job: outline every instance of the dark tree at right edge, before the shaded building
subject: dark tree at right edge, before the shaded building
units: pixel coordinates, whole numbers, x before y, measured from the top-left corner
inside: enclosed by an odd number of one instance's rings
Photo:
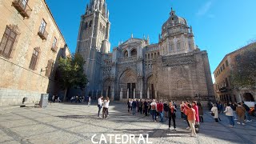
[[[254,89],[256,84],[256,43],[234,58],[231,81],[235,88]]]

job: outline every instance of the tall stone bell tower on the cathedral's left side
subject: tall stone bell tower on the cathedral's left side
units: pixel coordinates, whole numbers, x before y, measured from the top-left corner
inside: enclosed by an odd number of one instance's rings
[[[87,94],[100,90],[102,54],[110,52],[110,21],[106,0],[90,0],[82,14],[76,53],[86,61]]]

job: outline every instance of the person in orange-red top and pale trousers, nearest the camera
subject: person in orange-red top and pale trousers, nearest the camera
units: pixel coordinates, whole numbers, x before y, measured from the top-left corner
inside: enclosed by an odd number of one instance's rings
[[[194,125],[195,125],[195,110],[192,108],[190,104],[187,105],[189,109],[186,110],[186,116],[190,123],[191,137],[196,137],[197,134],[195,133]]]

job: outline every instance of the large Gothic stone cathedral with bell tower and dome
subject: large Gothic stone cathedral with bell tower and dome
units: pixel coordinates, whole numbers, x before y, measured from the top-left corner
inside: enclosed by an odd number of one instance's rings
[[[98,98],[102,94],[121,101],[206,101],[214,97],[207,53],[195,45],[192,27],[185,18],[171,10],[158,43],[132,35],[110,52],[109,16],[106,0],[90,0],[81,18],[76,52],[86,61],[86,95]]]

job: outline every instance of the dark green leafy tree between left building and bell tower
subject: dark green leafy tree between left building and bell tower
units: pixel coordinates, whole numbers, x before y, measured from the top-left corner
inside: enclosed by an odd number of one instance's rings
[[[70,88],[86,88],[88,82],[86,74],[83,73],[85,61],[80,54],[74,54],[72,58],[60,58],[58,64],[59,78],[58,82],[65,90],[64,99],[66,101],[66,92]]]

